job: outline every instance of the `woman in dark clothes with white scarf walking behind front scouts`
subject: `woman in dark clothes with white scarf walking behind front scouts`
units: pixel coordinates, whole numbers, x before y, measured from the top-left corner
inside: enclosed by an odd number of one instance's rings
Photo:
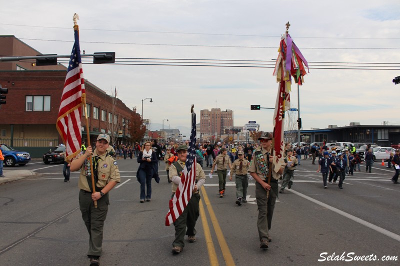
[[[140,165],[136,172],[136,178],[140,183],[140,203],[143,203],[144,200],[151,201],[151,179],[157,173],[154,166],[158,166],[157,155],[151,149],[149,141],[144,142],[143,148],[137,156],[137,162]]]

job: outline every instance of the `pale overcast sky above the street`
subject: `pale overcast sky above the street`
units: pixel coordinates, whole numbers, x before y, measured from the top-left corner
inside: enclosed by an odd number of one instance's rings
[[[43,54],[68,54],[76,12],[81,51],[87,54],[115,51],[117,58],[196,59],[193,64],[200,59],[271,61],[277,58],[289,21],[289,34],[310,65],[300,87],[303,129],[350,122],[399,125],[400,84],[392,83],[400,75],[398,10],[398,0],[14,0],[1,3],[0,35],[15,35]],[[343,68],[333,62],[390,63],[372,66],[394,70],[316,69]],[[87,80],[109,94],[116,87],[118,98],[139,113],[141,99],[152,97],[152,103],[143,102],[143,118],[159,124],[167,118],[166,128],[190,126],[193,103],[198,115],[201,109],[231,109],[235,126],[254,120],[261,130],[271,131],[273,110],[253,111],[250,104],[274,107],[278,86],[272,71],[83,65]],[[294,83],[291,99],[297,107]]]

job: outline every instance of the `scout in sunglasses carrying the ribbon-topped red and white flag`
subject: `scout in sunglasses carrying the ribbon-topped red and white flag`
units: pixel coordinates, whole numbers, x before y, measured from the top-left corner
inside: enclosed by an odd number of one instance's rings
[[[258,209],[259,248],[266,249],[268,242],[271,241],[268,230],[271,229],[273,209],[278,194],[278,180],[283,169],[280,168],[278,172],[274,171],[275,161],[272,158],[273,154],[271,154],[272,134],[263,132],[258,140],[261,142],[261,147],[254,151],[248,172],[256,181],[255,198]],[[269,169],[269,162],[272,163],[272,169]],[[271,171],[270,185],[267,183],[268,171]],[[267,191],[269,191],[268,197]]]

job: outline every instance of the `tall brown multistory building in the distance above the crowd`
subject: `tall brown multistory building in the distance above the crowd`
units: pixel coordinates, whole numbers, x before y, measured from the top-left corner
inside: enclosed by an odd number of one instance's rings
[[[233,111],[212,108],[200,111],[200,133],[210,133],[216,136],[226,135],[225,129],[233,128]]]

